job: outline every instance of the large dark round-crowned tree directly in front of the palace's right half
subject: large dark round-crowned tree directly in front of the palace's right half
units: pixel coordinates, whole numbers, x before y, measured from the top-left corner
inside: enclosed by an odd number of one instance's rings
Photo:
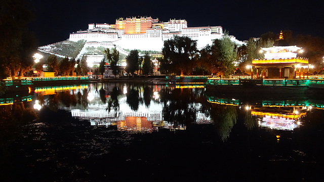
[[[195,54],[197,53],[197,43],[189,37],[175,36],[164,41],[162,48],[163,60],[160,70],[165,73],[184,72],[190,75],[195,67]]]

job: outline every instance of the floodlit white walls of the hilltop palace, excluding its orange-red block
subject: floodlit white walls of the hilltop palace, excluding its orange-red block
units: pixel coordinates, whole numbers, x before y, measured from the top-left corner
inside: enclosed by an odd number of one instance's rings
[[[185,22],[186,23],[186,22]],[[168,26],[174,26],[174,24],[168,24]],[[86,46],[106,46],[117,45],[120,48],[125,49],[140,49],[140,50],[154,50],[161,51],[165,40],[168,40],[174,36],[187,36],[197,41],[197,48],[204,48],[206,45],[211,45],[213,40],[219,39],[223,36],[223,30],[220,26],[214,27],[187,27],[183,24],[181,28],[173,27],[172,29],[180,31],[170,31],[170,29],[161,28],[148,28],[146,33],[124,33],[124,30],[107,28],[108,24],[89,24],[90,30],[78,31],[71,33],[69,40],[78,41],[86,40]],[[169,28],[170,28],[169,27]],[[242,41],[237,40],[234,36],[230,36],[231,40],[237,44],[243,44]],[[91,42],[91,43],[90,43]],[[88,44],[89,43],[89,44]],[[107,48],[108,48],[107,47]],[[81,53],[81,52],[80,52]]]

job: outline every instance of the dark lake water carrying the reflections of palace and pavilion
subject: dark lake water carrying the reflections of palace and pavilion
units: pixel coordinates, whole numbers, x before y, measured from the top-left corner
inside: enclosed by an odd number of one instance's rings
[[[194,87],[98,83],[14,98],[0,105],[0,181],[324,180],[323,100]]]

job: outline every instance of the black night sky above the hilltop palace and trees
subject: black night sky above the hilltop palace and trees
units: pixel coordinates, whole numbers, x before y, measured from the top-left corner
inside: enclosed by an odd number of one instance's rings
[[[151,16],[164,22],[185,19],[188,27],[222,26],[238,40],[280,30],[324,37],[320,1],[25,1],[36,17],[30,30],[39,45],[66,40],[69,33],[88,29],[89,23],[114,24],[116,18],[133,16]]]

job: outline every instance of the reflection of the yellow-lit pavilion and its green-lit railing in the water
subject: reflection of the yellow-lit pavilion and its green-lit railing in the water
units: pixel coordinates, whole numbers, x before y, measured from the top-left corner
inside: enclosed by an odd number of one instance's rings
[[[294,130],[302,124],[301,119],[306,116],[307,111],[312,108],[323,108],[322,101],[305,100],[305,98],[259,100],[246,104],[239,99],[209,96],[208,102],[238,106],[239,109],[249,111],[249,114],[256,118],[259,127],[274,130]]]

